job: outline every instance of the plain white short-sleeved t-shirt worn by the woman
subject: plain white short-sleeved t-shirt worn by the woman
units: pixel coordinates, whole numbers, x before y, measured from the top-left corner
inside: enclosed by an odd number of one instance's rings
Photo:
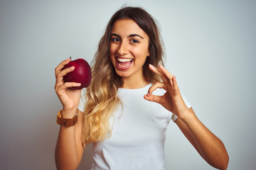
[[[112,136],[92,145],[93,170],[164,169],[166,128],[173,114],[159,103],[144,99],[151,85],[118,90],[124,107],[119,106],[110,119]],[[153,94],[162,96],[164,93],[163,89],[156,89]],[[85,112],[84,95],[85,89],[78,106],[82,112]],[[183,100],[190,108],[186,98]]]

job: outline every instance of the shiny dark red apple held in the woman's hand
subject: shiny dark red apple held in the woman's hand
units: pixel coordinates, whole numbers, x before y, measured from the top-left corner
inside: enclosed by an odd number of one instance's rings
[[[71,60],[68,64],[65,64],[63,69],[67,69],[69,67],[74,66],[75,69],[73,72],[69,72],[63,77],[64,82],[76,82],[80,83],[81,86],[78,87],[70,87],[70,90],[78,90],[85,88],[90,85],[92,79],[92,72],[90,69],[90,65],[83,59]]]

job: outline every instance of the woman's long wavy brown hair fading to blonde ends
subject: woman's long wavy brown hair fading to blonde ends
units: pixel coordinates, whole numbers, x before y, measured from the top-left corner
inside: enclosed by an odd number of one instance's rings
[[[95,53],[94,64],[92,65],[92,82],[87,87],[85,96],[86,105],[82,134],[84,145],[102,141],[111,136],[110,117],[117,106],[122,104],[117,96],[117,91],[123,85],[123,81],[122,77],[116,74],[110,60],[110,34],[114,23],[124,18],[135,21],[149,36],[150,57],[146,57],[143,66],[144,78],[151,83],[161,80],[157,74],[149,70],[149,64],[155,67],[164,64],[161,35],[154,18],[142,8],[121,8],[114,13],[107,24],[105,34],[102,36]]]

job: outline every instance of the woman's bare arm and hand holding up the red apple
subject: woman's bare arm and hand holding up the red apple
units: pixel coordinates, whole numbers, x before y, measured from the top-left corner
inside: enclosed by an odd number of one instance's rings
[[[68,87],[80,86],[75,82],[63,82],[63,77],[68,72],[73,72],[75,67],[63,69],[70,60],[61,62],[55,68],[55,92],[63,105],[62,117],[73,118],[78,113],[78,123],[75,126],[65,127],[60,125],[58,141],[55,148],[55,163],[57,169],[76,169],[82,158],[82,125],[83,113],[78,111],[78,103],[81,97],[81,90],[71,91]],[[63,70],[62,70],[63,69]]]

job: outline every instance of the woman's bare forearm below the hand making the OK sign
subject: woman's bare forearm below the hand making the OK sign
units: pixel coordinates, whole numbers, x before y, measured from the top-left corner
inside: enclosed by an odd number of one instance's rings
[[[184,115],[181,120],[191,132],[191,136],[203,159],[215,168],[226,169],[228,166],[228,153],[223,142],[198,120],[193,111]]]

